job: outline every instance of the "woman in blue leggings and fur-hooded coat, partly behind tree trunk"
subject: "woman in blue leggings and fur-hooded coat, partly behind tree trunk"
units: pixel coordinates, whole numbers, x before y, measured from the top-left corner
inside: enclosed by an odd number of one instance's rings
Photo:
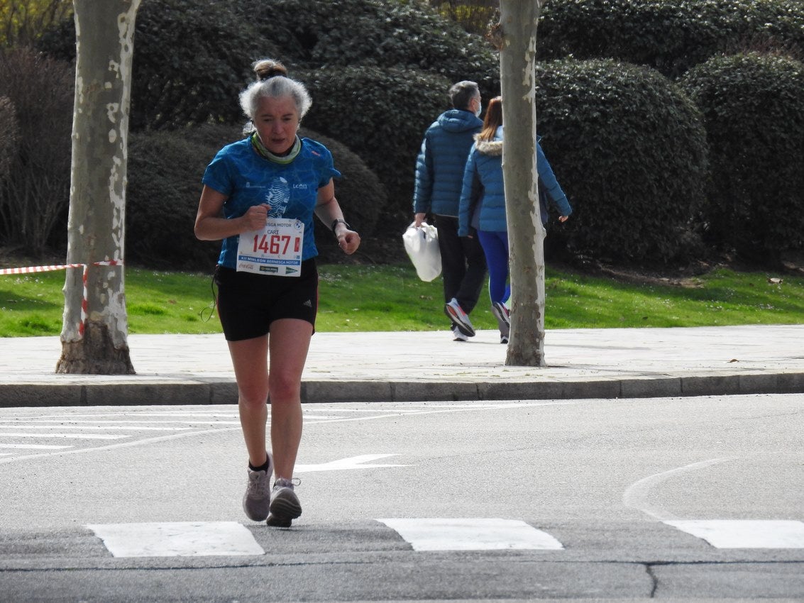
[[[538,141],[536,170],[539,173],[540,191],[544,191],[558,207],[559,220],[566,221],[572,214],[572,207]],[[539,205],[546,206],[546,201],[542,199]],[[539,207],[539,213],[544,226],[547,224],[547,207]],[[508,282],[508,226],[503,187],[503,99],[500,96],[491,99],[486,109],[483,129],[475,135],[463,174],[458,235],[474,236],[475,232],[486,254],[491,311],[497,318],[500,343],[508,343],[511,322],[506,301],[511,295],[511,285]]]

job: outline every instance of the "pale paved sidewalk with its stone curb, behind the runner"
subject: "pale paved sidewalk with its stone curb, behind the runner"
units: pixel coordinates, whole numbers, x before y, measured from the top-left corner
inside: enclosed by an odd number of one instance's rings
[[[0,338],[0,407],[233,404],[222,334],[129,335],[137,375],[55,375],[58,337]],[[804,392],[804,325],[549,330],[548,367],[496,331],[317,333],[302,400],[545,400]]]

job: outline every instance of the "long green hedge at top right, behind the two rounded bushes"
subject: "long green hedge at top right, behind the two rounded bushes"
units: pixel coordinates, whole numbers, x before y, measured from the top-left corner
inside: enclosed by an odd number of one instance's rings
[[[551,0],[539,59],[612,58],[671,77],[720,51],[781,47],[804,55],[800,0]]]

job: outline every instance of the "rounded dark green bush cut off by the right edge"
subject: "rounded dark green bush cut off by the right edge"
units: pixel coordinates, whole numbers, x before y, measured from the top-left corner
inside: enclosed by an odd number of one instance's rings
[[[708,234],[765,262],[804,248],[804,64],[717,56],[679,83],[704,113],[711,149]]]

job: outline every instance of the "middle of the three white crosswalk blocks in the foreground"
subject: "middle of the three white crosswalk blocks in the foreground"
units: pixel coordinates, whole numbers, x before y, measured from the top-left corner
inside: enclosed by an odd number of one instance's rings
[[[377,519],[411,544],[414,551],[560,551],[547,532],[519,519]]]

